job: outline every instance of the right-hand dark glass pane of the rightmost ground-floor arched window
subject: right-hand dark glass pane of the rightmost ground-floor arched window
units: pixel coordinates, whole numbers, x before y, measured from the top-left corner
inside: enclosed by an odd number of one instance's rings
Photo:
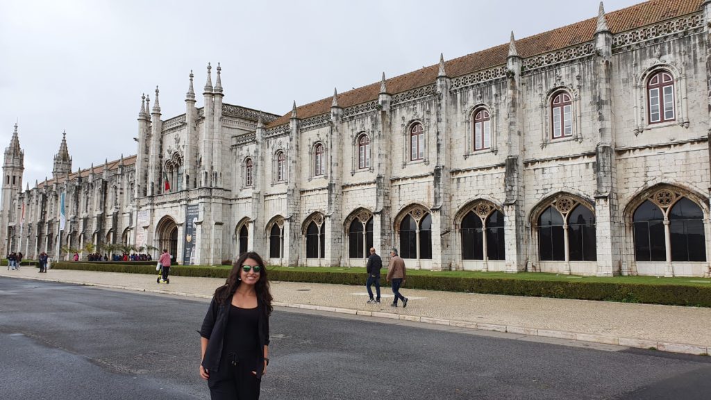
[[[706,246],[703,211],[683,198],[669,212],[672,261],[705,261]]]

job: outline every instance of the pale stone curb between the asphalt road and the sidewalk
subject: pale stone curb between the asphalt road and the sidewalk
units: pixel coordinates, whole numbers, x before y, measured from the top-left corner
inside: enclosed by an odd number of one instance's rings
[[[211,295],[198,295],[195,293],[183,293],[183,292],[171,292],[169,290],[159,290],[159,289],[141,289],[141,288],[130,288],[128,286],[122,285],[107,285],[103,283],[86,283],[77,282],[73,280],[58,280],[58,279],[48,279],[48,278],[30,278],[26,276],[7,276],[0,275],[4,278],[16,278],[16,279],[26,279],[26,280],[42,280],[46,282],[56,282],[56,283],[72,283],[74,285],[81,286],[95,286],[97,288],[109,288],[109,289],[121,289],[121,290],[131,290],[134,292],[146,292],[146,293],[157,293],[162,295],[176,295],[187,298],[203,298],[210,299]],[[442,318],[432,318],[432,317],[419,317],[417,315],[400,315],[392,314],[390,312],[379,312],[379,311],[366,311],[366,310],[354,310],[351,308],[341,308],[341,307],[328,307],[324,305],[311,305],[311,304],[298,304],[293,302],[273,302],[272,305],[279,307],[289,307],[289,308],[299,308],[301,310],[315,310],[324,312],[338,312],[340,314],[349,315],[363,315],[365,317],[375,317],[375,318],[386,318],[389,320],[400,320],[400,321],[410,321],[410,322],[422,322],[425,324],[434,325],[444,325],[451,327],[461,327],[471,330],[483,330],[483,331],[493,331],[493,332],[506,332],[515,335],[526,335],[526,336],[538,336],[538,337],[552,337],[555,339],[563,340],[575,340],[577,342],[592,342],[601,344],[614,344],[624,347],[634,347],[636,349],[653,349],[661,352],[670,353],[682,353],[682,354],[694,354],[709,356],[711,355],[711,347],[700,346],[695,344],[686,343],[671,343],[671,342],[658,342],[655,340],[642,340],[631,337],[615,337],[615,336],[605,336],[605,335],[590,335],[579,332],[567,332],[560,330],[543,330],[535,329],[530,327],[515,327],[511,325],[498,325],[498,324],[488,324],[482,322],[469,322],[469,321],[457,321],[457,320],[446,320]]]

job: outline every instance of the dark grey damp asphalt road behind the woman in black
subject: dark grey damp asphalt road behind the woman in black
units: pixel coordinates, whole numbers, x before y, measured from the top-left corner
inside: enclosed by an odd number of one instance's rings
[[[0,398],[209,399],[207,306],[0,278]],[[270,325],[262,399],[711,398],[709,357],[287,310]]]

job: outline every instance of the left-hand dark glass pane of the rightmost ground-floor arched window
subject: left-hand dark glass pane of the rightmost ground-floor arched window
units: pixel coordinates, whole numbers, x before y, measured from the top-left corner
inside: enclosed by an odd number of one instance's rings
[[[637,261],[665,261],[664,215],[649,200],[634,211],[634,254]]]

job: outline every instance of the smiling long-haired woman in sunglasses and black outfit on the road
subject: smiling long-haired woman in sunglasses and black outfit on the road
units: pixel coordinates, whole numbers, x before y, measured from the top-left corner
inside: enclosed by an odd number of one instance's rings
[[[225,285],[215,290],[200,330],[200,376],[213,400],[259,399],[269,365],[272,294],[264,261],[252,251],[232,264]]]

